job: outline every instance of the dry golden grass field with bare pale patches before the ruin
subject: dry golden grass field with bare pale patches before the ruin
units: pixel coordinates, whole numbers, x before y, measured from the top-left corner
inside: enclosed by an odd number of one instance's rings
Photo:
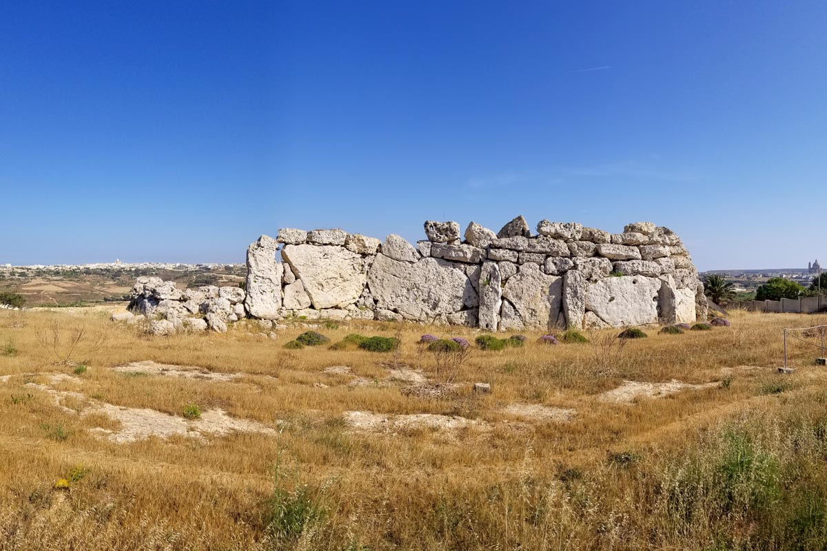
[[[452,365],[0,311],[0,549],[825,549],[827,368],[776,368],[827,317],[730,319]]]

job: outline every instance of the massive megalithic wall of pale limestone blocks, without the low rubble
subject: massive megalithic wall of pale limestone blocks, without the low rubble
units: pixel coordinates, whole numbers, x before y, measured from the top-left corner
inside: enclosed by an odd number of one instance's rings
[[[282,229],[247,249],[251,317],[410,320],[485,330],[691,323],[705,319],[680,238],[651,222],[624,231],[522,216],[499,233],[427,221],[427,240]],[[278,257],[278,258],[277,258]]]

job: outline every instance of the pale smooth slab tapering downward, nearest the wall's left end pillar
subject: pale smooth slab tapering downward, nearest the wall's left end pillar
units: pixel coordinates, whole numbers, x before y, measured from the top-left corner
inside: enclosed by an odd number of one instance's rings
[[[281,251],[302,280],[313,308],[344,308],[365,287],[365,263],[359,254],[334,245],[286,245]]]

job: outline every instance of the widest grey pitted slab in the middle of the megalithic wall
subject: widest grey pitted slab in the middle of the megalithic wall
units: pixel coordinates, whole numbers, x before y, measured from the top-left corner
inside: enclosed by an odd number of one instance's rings
[[[377,308],[397,311],[408,320],[433,321],[480,303],[465,269],[443,259],[412,264],[377,254],[367,284]]]

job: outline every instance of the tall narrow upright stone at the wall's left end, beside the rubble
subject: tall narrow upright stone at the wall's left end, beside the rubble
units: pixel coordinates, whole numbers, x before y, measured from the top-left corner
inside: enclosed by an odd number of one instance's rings
[[[275,260],[279,244],[268,235],[247,248],[247,284],[244,306],[251,316],[275,320],[281,308],[284,265]]]

